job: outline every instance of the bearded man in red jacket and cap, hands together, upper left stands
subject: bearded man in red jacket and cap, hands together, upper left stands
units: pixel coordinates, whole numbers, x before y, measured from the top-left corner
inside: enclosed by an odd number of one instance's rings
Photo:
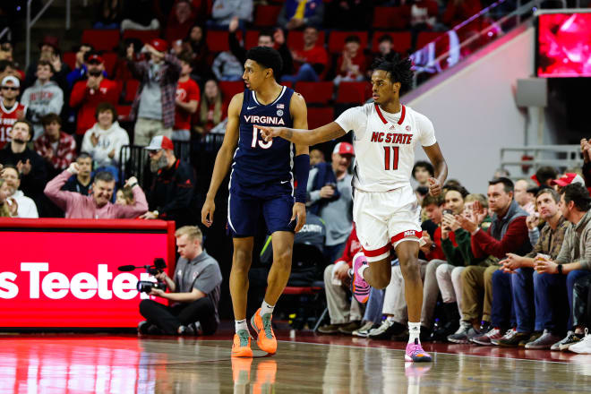
[[[99,55],[91,55],[86,61],[88,80],[77,81],[70,96],[70,107],[78,107],[76,134],[84,135],[95,124],[99,103],[117,104],[118,88],[115,81],[103,76],[105,61]]]

